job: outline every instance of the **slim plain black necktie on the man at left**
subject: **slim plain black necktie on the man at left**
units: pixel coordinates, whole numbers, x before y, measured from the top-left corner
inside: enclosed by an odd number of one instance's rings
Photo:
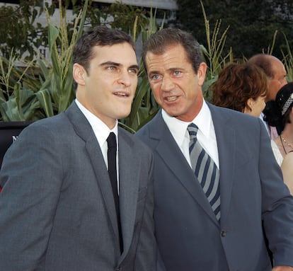
[[[119,211],[119,197],[118,197],[118,188],[117,188],[117,166],[116,166],[116,152],[117,152],[117,143],[116,136],[113,132],[110,132],[107,139],[108,143],[108,173],[110,176],[110,182],[113,190],[113,197],[115,201],[115,208],[117,214],[117,223],[119,230],[119,241],[120,241],[120,250],[123,250],[122,242],[122,231],[120,224],[120,211]]]

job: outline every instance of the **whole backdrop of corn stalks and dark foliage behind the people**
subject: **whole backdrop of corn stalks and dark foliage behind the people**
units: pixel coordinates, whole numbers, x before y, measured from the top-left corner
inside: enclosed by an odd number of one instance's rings
[[[175,21],[166,23],[156,12],[115,3],[99,6],[91,0],[21,0],[21,5],[0,7],[0,121],[38,120],[65,110],[74,99],[71,50],[88,25],[110,25],[132,35],[139,46],[163,27],[179,27],[199,40],[207,63],[203,93],[212,98],[212,84],[229,62],[243,61],[252,54],[266,52],[282,59],[293,81],[292,44],[293,1],[197,1],[178,0]],[[52,22],[59,8],[60,25]],[[67,20],[67,8],[76,15]],[[282,10],[281,10],[282,8]],[[282,11],[282,12],[281,12]],[[46,12],[47,23],[36,23]],[[161,16],[161,13],[160,13]],[[48,47],[46,59],[38,48]],[[37,50],[36,50],[37,49]],[[24,52],[26,54],[24,55]],[[130,116],[120,125],[135,132],[159,110],[139,59],[139,83]]]

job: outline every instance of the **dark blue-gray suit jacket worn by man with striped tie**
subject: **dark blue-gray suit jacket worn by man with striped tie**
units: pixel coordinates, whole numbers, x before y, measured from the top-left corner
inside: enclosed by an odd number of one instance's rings
[[[217,137],[221,220],[159,112],[137,132],[154,151],[155,231],[168,271],[293,266],[293,200],[260,119],[209,105]],[[161,263],[160,263],[161,265]]]

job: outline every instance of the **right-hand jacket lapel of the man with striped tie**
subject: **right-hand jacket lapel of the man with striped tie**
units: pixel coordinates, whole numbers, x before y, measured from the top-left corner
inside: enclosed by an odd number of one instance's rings
[[[219,108],[209,105],[217,137],[220,167],[220,193],[221,193],[221,221],[224,223],[231,204],[231,191],[235,175],[236,132],[229,126],[231,115],[219,113]],[[223,114],[224,113],[224,114]],[[223,117],[224,116],[224,117]]]

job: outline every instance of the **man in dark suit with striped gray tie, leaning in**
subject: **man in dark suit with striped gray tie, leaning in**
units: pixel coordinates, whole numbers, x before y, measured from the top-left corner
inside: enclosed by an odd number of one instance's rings
[[[160,30],[143,59],[162,108],[137,132],[154,151],[158,270],[293,270],[293,198],[263,122],[205,102],[191,34]]]

